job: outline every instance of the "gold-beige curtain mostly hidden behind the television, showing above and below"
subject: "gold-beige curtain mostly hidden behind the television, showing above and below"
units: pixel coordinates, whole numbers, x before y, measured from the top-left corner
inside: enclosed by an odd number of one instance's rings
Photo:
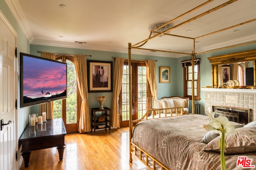
[[[55,60],[55,53],[42,52],[41,57]],[[46,112],[46,119],[53,119],[53,102],[40,104],[39,115],[42,115],[42,112]]]

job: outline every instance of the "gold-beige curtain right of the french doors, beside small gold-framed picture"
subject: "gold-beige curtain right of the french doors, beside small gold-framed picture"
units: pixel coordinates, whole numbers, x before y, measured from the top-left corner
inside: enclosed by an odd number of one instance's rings
[[[147,68],[147,78],[150,86],[152,96],[152,107],[155,106],[155,100],[157,99],[157,86],[156,86],[156,61],[145,61]]]

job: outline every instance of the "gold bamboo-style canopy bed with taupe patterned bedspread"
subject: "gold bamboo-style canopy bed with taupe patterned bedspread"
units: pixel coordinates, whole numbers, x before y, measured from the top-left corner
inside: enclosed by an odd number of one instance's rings
[[[161,170],[168,170],[168,169],[219,169],[220,168],[220,153],[212,151],[212,150],[202,150],[202,148],[205,147],[205,143],[201,143],[201,139],[206,135],[207,131],[205,131],[202,128],[203,124],[206,124],[208,121],[208,117],[204,115],[195,115],[194,114],[194,57],[195,55],[208,53],[212,51],[217,51],[221,49],[228,49],[231,47],[238,47],[241,45],[248,45],[252,43],[256,43],[256,41],[250,41],[246,43],[240,43],[236,45],[231,45],[228,47],[222,47],[219,49],[214,49],[210,51],[204,51],[204,52],[195,52],[195,43],[196,40],[207,37],[209,35],[214,35],[216,33],[220,33],[222,31],[226,31],[228,29],[232,29],[234,27],[238,27],[240,25],[244,25],[247,23],[252,23],[256,21],[256,18],[248,21],[244,21],[242,23],[231,25],[229,27],[213,31],[204,35],[200,35],[198,37],[186,37],[181,35],[174,35],[170,34],[169,31],[172,31],[174,29],[177,29],[178,27],[185,25],[187,23],[190,23],[191,21],[197,20],[198,18],[201,18],[203,16],[206,16],[214,11],[217,11],[221,8],[224,8],[225,6],[228,6],[232,4],[233,2],[236,2],[238,0],[229,0],[223,4],[220,4],[219,6],[216,6],[214,8],[211,8],[210,10],[207,10],[206,12],[203,12],[197,16],[194,16],[193,18],[190,18],[186,21],[183,21],[169,29],[166,29],[162,32],[158,32],[159,28],[164,27],[165,25],[168,25],[188,14],[191,12],[194,12],[198,10],[199,8],[207,5],[208,3],[212,2],[213,0],[208,0],[199,6],[196,6],[195,8],[189,10],[188,12],[185,12],[184,14],[174,18],[173,20],[170,20],[160,27],[157,27],[155,29],[152,29],[150,32],[150,35],[147,39],[144,39],[143,41],[140,41],[139,43],[136,43],[132,45],[131,43],[128,43],[128,63],[129,67],[131,65],[131,50],[132,49],[141,49],[141,50],[149,50],[149,51],[159,51],[159,52],[165,52],[165,53],[176,53],[176,54],[182,54],[182,55],[191,55],[191,63],[192,63],[192,114],[189,115],[181,115],[181,116],[174,116],[174,117],[164,117],[164,118],[158,118],[157,116],[154,119],[148,119],[146,114],[144,117],[138,120],[132,120],[132,104],[130,103],[130,159],[129,161],[132,162],[132,154],[136,156],[142,163],[144,163],[148,168],[150,169],[161,169]],[[142,48],[148,41],[151,39],[154,39],[158,36],[166,35],[170,37],[178,37],[182,39],[190,39],[193,41],[193,46],[191,49],[191,53],[186,52],[177,52],[177,51],[166,51],[161,49],[151,49],[151,48]],[[252,51],[253,55],[255,56],[256,51]],[[234,55],[229,55],[234,57]],[[224,57],[221,57],[222,59]],[[209,59],[210,60],[210,59]],[[254,86],[256,86],[256,64],[255,64],[256,58],[253,57],[254,61]],[[242,60],[241,60],[242,61]],[[214,75],[216,76],[216,61],[212,65],[212,86],[217,87],[216,77],[214,79]],[[239,62],[239,60],[237,61]],[[212,62],[211,62],[212,63]],[[221,63],[221,62],[220,62]],[[218,63],[218,64],[220,64]],[[129,82],[131,82],[131,72],[129,70]],[[216,84],[217,83],[217,84]],[[129,91],[132,92],[132,86],[129,83]],[[129,95],[129,101],[131,102],[131,94]],[[150,110],[152,111],[152,110]],[[148,112],[148,111],[147,111]],[[193,120],[193,121],[191,121]],[[163,122],[167,122],[167,124],[163,124]],[[168,124],[169,123],[169,124]],[[234,123],[236,124],[236,123]],[[158,128],[155,128],[158,127]],[[163,129],[161,129],[163,128]],[[252,128],[255,130],[256,127]],[[146,130],[145,130],[146,129]],[[156,131],[156,133],[152,133],[152,131]],[[171,129],[171,132],[166,132],[166,129]],[[143,133],[142,133],[143,131]],[[147,132],[149,134],[147,134]],[[164,134],[168,133],[170,139],[165,139],[166,141],[170,140],[168,143],[170,144],[170,150],[166,149],[164,147],[164,150],[160,150],[162,141],[158,141],[160,139],[165,138],[166,136],[158,136],[161,135],[162,132]],[[255,132],[255,131],[254,131]],[[172,133],[169,135],[169,133]],[[181,134],[181,135],[180,135]],[[157,136],[154,136],[157,135]],[[191,136],[192,135],[192,136]],[[140,141],[141,137],[145,137]],[[152,139],[153,138],[153,139]],[[174,139],[175,138],[175,139]],[[143,142],[144,140],[144,142]],[[148,143],[151,141],[151,143]],[[182,142],[180,142],[182,141]],[[159,142],[159,143],[158,143]],[[146,143],[146,144],[145,144]],[[182,144],[184,143],[184,145]],[[165,143],[166,144],[166,143]],[[158,146],[159,145],[159,146]],[[254,144],[256,146],[256,144]],[[156,147],[157,146],[157,147]],[[160,152],[157,152],[159,150]],[[165,150],[167,150],[165,152]],[[180,153],[179,153],[180,152]],[[238,167],[236,166],[236,161],[238,156],[240,156],[241,153],[237,154],[226,154],[227,158],[227,167],[232,169],[242,169],[242,166]],[[166,157],[167,156],[167,157]],[[253,164],[256,165],[256,151],[247,153],[246,156],[250,157],[253,160]],[[192,158],[194,157],[194,158]],[[177,160],[176,160],[177,159]],[[181,160],[178,160],[181,159]],[[197,159],[197,160],[196,160]]]

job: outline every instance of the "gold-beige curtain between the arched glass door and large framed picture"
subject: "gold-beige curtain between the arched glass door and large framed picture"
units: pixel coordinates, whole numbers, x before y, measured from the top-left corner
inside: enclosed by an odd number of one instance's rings
[[[85,55],[74,55],[74,65],[76,67],[76,80],[80,96],[82,98],[79,133],[90,131],[90,115],[88,107],[87,69]]]

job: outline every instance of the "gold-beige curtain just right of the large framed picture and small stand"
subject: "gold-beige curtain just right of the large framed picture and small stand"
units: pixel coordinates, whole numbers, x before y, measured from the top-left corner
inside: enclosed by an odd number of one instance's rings
[[[119,113],[118,113],[118,96],[122,88],[122,78],[124,71],[124,58],[116,58],[114,66],[114,82],[113,82],[113,94],[112,94],[112,116],[111,126],[120,127]]]

